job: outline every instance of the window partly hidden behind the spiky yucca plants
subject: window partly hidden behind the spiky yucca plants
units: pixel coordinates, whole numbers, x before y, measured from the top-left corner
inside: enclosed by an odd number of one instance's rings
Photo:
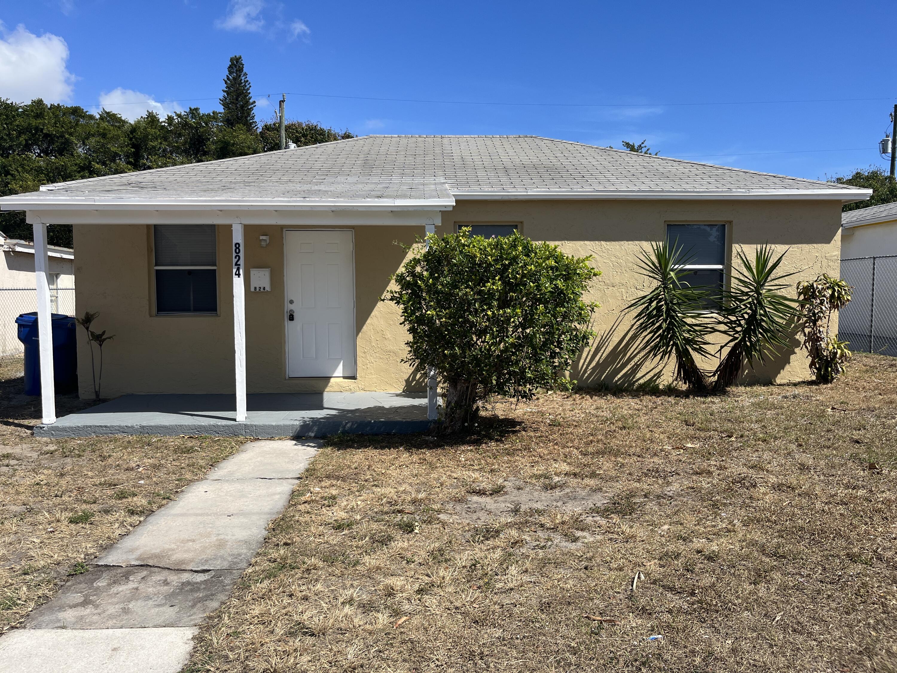
[[[726,272],[725,224],[667,224],[666,239],[670,245],[682,249],[689,274],[684,280],[692,287],[705,287],[714,299],[709,310],[718,306]]]

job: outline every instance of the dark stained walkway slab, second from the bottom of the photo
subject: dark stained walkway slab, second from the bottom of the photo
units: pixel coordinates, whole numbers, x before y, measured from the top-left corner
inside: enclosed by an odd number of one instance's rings
[[[77,575],[35,609],[29,629],[195,626],[231,593],[241,570],[105,566]]]

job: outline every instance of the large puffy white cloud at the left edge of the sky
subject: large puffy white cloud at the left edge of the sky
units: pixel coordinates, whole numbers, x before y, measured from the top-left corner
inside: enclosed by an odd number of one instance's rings
[[[3,22],[0,33],[0,98],[17,102],[42,98],[48,103],[72,99],[74,74],[65,68],[65,39],[51,33],[38,37],[22,24],[10,32]]]

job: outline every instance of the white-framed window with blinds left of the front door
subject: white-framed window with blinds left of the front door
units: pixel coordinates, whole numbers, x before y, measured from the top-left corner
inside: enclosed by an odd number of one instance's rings
[[[152,228],[156,315],[218,312],[214,224],[156,224]]]

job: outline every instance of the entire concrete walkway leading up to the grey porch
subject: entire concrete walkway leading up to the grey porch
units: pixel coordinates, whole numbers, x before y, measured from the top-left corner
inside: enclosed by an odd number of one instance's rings
[[[9,673],[177,673],[290,500],[317,441],[253,441],[0,638]]]

